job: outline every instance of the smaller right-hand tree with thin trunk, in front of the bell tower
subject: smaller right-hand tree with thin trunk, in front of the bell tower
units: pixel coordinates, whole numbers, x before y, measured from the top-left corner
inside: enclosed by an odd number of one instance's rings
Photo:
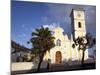
[[[72,47],[75,48],[75,46],[78,46],[78,50],[82,50],[82,67],[84,66],[85,50],[87,48],[93,47],[94,44],[96,44],[96,40],[92,37],[90,33],[86,34],[86,36],[78,37],[74,40],[74,44],[72,44]]]

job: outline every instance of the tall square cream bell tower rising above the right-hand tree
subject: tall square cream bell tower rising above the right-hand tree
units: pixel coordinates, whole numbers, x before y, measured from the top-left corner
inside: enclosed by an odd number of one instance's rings
[[[85,36],[85,11],[83,9],[72,9],[70,17],[73,40]]]

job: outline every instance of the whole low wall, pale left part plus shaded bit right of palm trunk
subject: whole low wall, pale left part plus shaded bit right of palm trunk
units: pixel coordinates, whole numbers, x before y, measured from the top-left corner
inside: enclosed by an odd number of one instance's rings
[[[37,69],[38,63],[33,62],[15,62],[11,64],[11,71],[23,71],[23,70],[31,70]],[[46,68],[47,63],[42,62],[40,68]]]

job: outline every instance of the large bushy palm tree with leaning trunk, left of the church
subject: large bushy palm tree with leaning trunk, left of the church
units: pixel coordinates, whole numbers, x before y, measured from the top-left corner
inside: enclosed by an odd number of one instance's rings
[[[44,54],[54,47],[54,37],[48,28],[41,27],[32,32],[32,43],[33,52],[39,54],[39,64],[37,72],[40,70],[41,63],[43,61]]]

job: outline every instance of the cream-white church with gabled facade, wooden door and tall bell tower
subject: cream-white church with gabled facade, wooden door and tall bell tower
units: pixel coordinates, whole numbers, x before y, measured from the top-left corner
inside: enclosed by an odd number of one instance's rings
[[[47,51],[44,60],[50,60],[51,63],[63,63],[69,60],[81,60],[82,50],[78,51],[77,47],[73,48],[72,44],[74,39],[77,37],[86,35],[86,24],[85,24],[85,11],[82,9],[72,9],[71,14],[71,38],[69,39],[67,35],[64,35],[64,30],[57,26],[53,29],[53,36],[55,37],[53,47],[49,52]],[[85,51],[84,60],[88,59],[88,50]]]

